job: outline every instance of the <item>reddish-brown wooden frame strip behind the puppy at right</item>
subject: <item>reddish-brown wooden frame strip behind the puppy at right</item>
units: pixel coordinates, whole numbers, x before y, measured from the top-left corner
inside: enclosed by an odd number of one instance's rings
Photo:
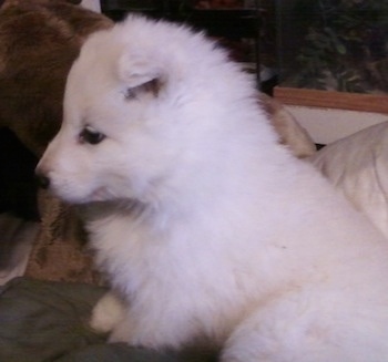
[[[361,94],[276,86],[274,96],[282,103],[290,105],[388,113],[388,94]]]

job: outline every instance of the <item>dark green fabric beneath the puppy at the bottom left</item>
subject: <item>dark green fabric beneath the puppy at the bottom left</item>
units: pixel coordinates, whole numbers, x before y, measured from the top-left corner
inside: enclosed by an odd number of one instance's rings
[[[105,343],[88,321],[106,290],[17,278],[0,287],[0,362],[214,362],[211,353]]]

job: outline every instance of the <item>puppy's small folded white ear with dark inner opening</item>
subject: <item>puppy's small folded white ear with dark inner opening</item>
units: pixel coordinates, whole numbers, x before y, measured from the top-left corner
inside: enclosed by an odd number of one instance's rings
[[[127,54],[119,60],[119,76],[126,84],[127,99],[135,97],[140,92],[151,92],[156,96],[165,77],[154,60]]]

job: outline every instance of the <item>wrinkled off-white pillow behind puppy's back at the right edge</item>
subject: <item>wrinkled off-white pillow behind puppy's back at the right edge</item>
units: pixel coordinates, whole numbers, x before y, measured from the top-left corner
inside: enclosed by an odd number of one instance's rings
[[[329,144],[310,159],[388,237],[388,122]]]

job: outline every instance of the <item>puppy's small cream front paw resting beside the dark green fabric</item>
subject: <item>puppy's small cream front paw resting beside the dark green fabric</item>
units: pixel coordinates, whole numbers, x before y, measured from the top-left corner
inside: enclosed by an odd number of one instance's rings
[[[112,292],[108,292],[95,304],[90,327],[100,333],[111,332],[125,316],[123,301]]]

